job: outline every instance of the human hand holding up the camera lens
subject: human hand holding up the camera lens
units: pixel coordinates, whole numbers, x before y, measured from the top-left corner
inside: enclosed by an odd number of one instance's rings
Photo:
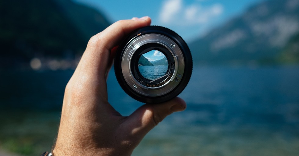
[[[174,98],[122,116],[108,102],[106,78],[116,46],[131,31],[150,23],[149,17],[121,20],[89,40],[65,89],[54,156],[131,155],[154,126],[186,108],[181,98]]]

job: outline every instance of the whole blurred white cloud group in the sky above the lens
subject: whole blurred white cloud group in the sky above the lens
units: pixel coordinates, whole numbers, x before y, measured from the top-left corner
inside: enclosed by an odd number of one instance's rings
[[[201,2],[201,1],[200,1]],[[219,3],[201,6],[199,2],[184,5],[182,0],[164,2],[160,12],[160,22],[171,25],[207,24],[223,13],[223,5]]]

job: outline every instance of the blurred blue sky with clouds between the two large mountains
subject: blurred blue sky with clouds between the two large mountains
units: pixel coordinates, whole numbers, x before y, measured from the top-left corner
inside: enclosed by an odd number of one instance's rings
[[[152,25],[168,27],[186,42],[204,36],[264,0],[73,0],[91,6],[111,21],[149,16]]]

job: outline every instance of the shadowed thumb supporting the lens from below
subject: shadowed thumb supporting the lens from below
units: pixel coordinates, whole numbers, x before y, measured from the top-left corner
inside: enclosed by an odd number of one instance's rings
[[[128,117],[131,128],[133,128],[132,134],[142,139],[166,116],[185,109],[186,102],[178,97],[160,104],[145,104]]]

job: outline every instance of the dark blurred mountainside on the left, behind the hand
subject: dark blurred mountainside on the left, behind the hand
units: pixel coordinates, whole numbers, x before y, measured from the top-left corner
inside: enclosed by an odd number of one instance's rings
[[[103,13],[71,0],[0,1],[0,68],[34,58],[74,59],[110,25]]]

